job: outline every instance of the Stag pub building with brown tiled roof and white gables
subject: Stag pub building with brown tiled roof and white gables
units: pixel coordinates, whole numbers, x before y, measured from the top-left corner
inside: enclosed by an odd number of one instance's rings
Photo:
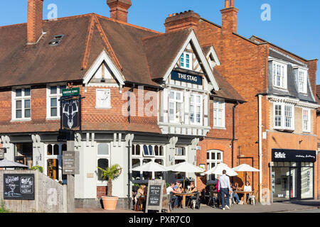
[[[134,167],[151,160],[164,166],[230,165],[238,138],[236,106],[244,102],[215,70],[220,61],[214,46],[201,46],[192,28],[159,33],[134,26],[127,23],[130,0],[107,4],[110,18],[90,13],[43,21],[43,1],[28,0],[27,23],[0,27],[4,156],[42,166],[48,177],[68,183],[60,116],[73,126],[78,114],[77,207],[101,207],[107,181],[97,167],[122,167],[112,192],[127,208],[132,185],[151,179],[151,173],[132,172]],[[81,113],[78,106],[60,105],[71,83],[84,98]],[[155,178],[172,182],[183,176],[160,172]],[[215,180],[186,177],[201,188]]]

